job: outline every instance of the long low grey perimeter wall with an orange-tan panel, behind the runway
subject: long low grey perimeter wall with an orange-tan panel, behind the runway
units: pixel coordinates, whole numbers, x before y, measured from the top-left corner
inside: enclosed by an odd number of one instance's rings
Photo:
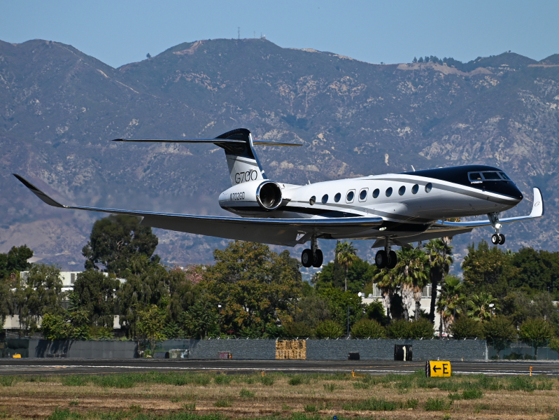
[[[172,339],[155,351],[169,358],[253,360],[394,360],[395,346],[411,346],[413,360],[488,360],[485,340],[455,339]],[[30,358],[137,358],[135,341],[48,341],[7,339],[3,357],[20,353]],[[540,349],[542,351],[542,349]],[[227,355],[227,356],[225,356]]]

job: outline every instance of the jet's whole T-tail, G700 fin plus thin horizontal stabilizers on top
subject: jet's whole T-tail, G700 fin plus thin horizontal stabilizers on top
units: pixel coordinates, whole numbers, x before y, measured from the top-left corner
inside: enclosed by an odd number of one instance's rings
[[[213,143],[225,151],[231,185],[267,179],[258,161],[254,145],[261,146],[302,146],[301,144],[279,143],[276,141],[255,141],[246,128],[236,128],[213,139],[115,139],[113,141],[136,141],[145,143]]]

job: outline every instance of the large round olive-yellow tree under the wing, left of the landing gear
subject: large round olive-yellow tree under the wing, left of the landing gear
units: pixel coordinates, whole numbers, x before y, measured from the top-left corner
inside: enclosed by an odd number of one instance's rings
[[[215,308],[222,306],[220,323],[231,335],[257,335],[278,326],[279,313],[293,314],[301,295],[299,262],[255,242],[233,241],[213,251],[201,286]]]

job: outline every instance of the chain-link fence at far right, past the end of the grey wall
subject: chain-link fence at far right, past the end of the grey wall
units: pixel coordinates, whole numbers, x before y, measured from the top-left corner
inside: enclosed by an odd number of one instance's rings
[[[488,357],[502,360],[559,360],[559,353],[549,348],[549,342],[511,342],[487,339]]]

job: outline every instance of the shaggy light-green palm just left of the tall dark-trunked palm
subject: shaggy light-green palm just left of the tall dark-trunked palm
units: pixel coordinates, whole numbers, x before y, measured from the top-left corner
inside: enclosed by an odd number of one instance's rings
[[[416,302],[415,319],[420,316],[423,288],[429,279],[429,258],[419,248],[402,248],[397,251],[398,263],[394,268],[397,282],[402,284],[402,301],[404,302],[404,318],[408,319],[408,308],[411,300]]]

